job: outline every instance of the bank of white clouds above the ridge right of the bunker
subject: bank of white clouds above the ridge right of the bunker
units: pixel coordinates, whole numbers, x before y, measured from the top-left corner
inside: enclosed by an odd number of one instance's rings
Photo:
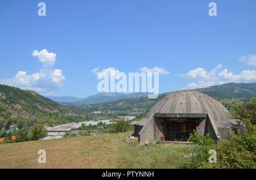
[[[247,65],[255,67],[254,55],[242,56],[240,61],[246,62]],[[224,83],[253,83],[256,82],[256,71],[254,70],[243,70],[239,74],[234,74],[229,72],[226,68],[221,72],[217,71],[222,67],[222,65],[217,65],[211,71],[207,71],[204,68],[195,68],[194,70],[188,71],[186,74],[179,74],[182,78],[197,79],[197,82],[189,83],[183,89],[195,89],[204,88],[212,85],[220,85]]]

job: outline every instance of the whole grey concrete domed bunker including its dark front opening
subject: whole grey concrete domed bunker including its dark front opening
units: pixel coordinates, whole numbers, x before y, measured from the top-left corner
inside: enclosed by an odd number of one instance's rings
[[[201,136],[209,132],[214,140],[228,138],[235,122],[228,110],[214,98],[198,91],[176,91],[162,98],[146,118],[134,124],[134,136],[153,141],[187,141],[196,130]]]

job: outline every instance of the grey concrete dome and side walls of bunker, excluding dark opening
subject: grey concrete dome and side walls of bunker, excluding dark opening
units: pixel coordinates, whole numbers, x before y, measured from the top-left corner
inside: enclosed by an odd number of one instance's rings
[[[228,110],[214,98],[198,91],[176,91],[157,102],[146,118],[135,122],[134,135],[139,136],[140,142],[159,140],[159,131],[163,129],[160,130],[156,124],[156,121],[162,121],[158,118],[166,118],[166,121],[176,121],[174,119],[177,118],[192,118],[193,121],[206,119],[198,126],[215,140],[228,138],[230,128],[236,124],[228,118]]]

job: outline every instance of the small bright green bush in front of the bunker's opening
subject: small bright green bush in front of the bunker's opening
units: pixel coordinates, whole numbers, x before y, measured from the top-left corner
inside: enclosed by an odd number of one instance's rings
[[[214,140],[209,137],[210,134],[207,133],[204,137],[201,136],[197,131],[193,131],[193,133],[189,134],[188,141],[199,143],[200,145],[210,145],[214,143]]]

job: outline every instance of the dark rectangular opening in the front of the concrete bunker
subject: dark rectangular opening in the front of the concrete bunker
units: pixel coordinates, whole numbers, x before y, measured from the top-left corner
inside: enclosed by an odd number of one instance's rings
[[[193,130],[196,130],[196,122],[167,122],[166,140],[186,142]]]

